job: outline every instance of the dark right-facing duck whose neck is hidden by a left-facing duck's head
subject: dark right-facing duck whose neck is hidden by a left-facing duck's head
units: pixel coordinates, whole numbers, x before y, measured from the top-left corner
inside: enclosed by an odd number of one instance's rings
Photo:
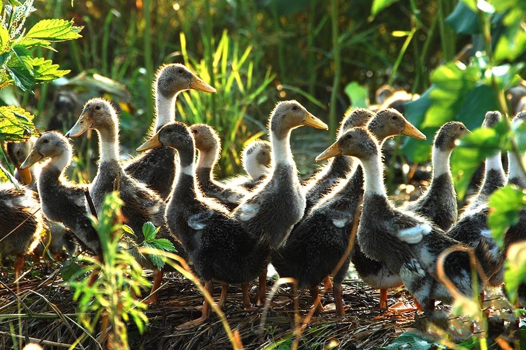
[[[352,123],[351,115],[352,113],[344,119],[340,129],[347,130],[352,127],[350,125],[369,124],[372,132],[380,140],[402,133],[417,139],[425,139],[426,137],[395,110],[380,111],[378,114],[367,113],[368,119],[358,116]],[[337,155],[336,157],[348,156]],[[341,179],[331,192],[320,199],[306,216],[294,226],[285,245],[280,247],[277,252],[272,252],[271,262],[280,277],[295,278],[300,288],[309,288],[313,297],[313,304],[319,310],[323,309],[318,298],[318,285],[322,280],[328,282],[326,276],[332,274],[332,291],[338,316],[345,316],[341,282],[350,263],[349,241],[351,239],[351,228],[355,223],[355,215],[363,194],[362,185],[363,173],[361,166],[358,166],[350,176]],[[341,266],[335,271],[340,260]],[[367,268],[371,264],[376,264],[376,261],[361,264],[360,267]],[[379,270],[376,269],[375,272]],[[387,287],[396,287],[401,284],[396,275],[393,275],[387,268],[383,270],[381,270],[383,273],[380,273],[381,278],[378,276],[375,276],[376,279],[371,278],[371,280],[380,280],[381,282],[371,282],[372,285],[383,287],[386,284],[385,275],[388,275],[389,278]],[[359,271],[363,272],[362,270]],[[363,273],[363,275],[369,277],[371,274]],[[392,280],[396,282],[391,282]],[[385,298],[387,304],[387,294]]]

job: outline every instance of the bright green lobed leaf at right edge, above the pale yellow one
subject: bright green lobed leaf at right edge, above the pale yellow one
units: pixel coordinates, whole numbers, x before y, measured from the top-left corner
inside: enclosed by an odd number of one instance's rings
[[[491,213],[488,224],[491,234],[500,247],[504,246],[504,234],[519,222],[519,211],[526,205],[526,193],[514,185],[496,190],[488,201]]]

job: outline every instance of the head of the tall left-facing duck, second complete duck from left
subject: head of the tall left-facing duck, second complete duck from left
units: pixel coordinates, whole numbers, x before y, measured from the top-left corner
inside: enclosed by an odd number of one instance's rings
[[[66,133],[66,137],[80,136],[88,129],[112,129],[116,124],[117,112],[112,104],[105,99],[94,98],[86,102],[77,122]]]

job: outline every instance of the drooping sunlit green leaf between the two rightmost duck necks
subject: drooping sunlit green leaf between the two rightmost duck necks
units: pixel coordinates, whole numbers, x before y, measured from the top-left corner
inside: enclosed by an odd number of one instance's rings
[[[466,195],[471,177],[486,157],[500,151],[502,137],[493,129],[476,129],[462,137],[450,158],[451,175],[460,199]]]

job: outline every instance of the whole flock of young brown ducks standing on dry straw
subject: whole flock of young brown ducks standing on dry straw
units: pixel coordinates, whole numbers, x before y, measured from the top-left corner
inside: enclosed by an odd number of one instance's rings
[[[248,285],[256,278],[257,303],[264,302],[269,263],[280,277],[294,278],[298,288],[309,289],[313,307],[319,310],[319,285],[332,287],[338,316],[345,315],[341,283],[351,263],[364,282],[380,289],[381,309],[388,309],[387,290],[403,284],[437,323],[435,300],[452,301],[451,291],[437,277],[442,252],[451,251],[443,270],[463,295],[502,284],[505,249],[498,248],[488,228],[488,197],[507,183],[526,188],[521,162],[513,153],[508,155],[508,174],[500,153],[488,157],[480,189],[458,217],[449,157],[469,130],[461,122],[448,122],[433,140],[429,188],[417,200],[397,207],[383,183],[382,144],[396,135],[419,140],[426,136],[395,109],[351,110],[340,124],[337,141],[316,157],[328,162],[302,183],[290,150],[291,131],[303,125],[328,127],[291,100],[277,103],[271,111],[270,142],[257,140],[245,148],[247,175],[221,182],[213,172],[220,151],[218,133],[210,125],[175,121],[177,94],[188,89],[216,92],[183,65],[158,70],[155,134],[138,147],[140,155],[125,164],[120,162],[117,112],[100,98],[86,102],[65,135],[49,131],[36,140],[7,144],[16,176],[27,185],[0,187],[0,252],[17,256],[17,279],[23,257],[37,245],[43,225],[59,247],[53,253],[63,247],[75,251],[78,243],[102,259],[87,215],[100,214],[105,196],[118,189],[125,223],[136,234],[128,239],[143,241],[147,221],[160,227],[158,237],[173,242],[210,293],[214,282],[221,283],[221,307],[228,285],[238,284],[245,309],[252,309]],[[499,112],[488,112],[483,127],[492,128],[501,118]],[[524,119],[526,112],[521,112],[513,122]],[[73,152],[67,137],[90,129],[99,139],[98,171],[91,184],[79,185],[64,175]],[[47,162],[40,167],[42,160]],[[506,236],[506,247],[526,239],[524,225],[526,214],[521,213],[519,224]],[[472,281],[468,249],[480,266],[478,284]],[[163,271],[148,259],[140,263],[154,271],[153,292],[146,302],[155,302]],[[473,290],[473,285],[479,288]],[[202,316],[179,329],[199,325],[210,314],[205,300]]]

